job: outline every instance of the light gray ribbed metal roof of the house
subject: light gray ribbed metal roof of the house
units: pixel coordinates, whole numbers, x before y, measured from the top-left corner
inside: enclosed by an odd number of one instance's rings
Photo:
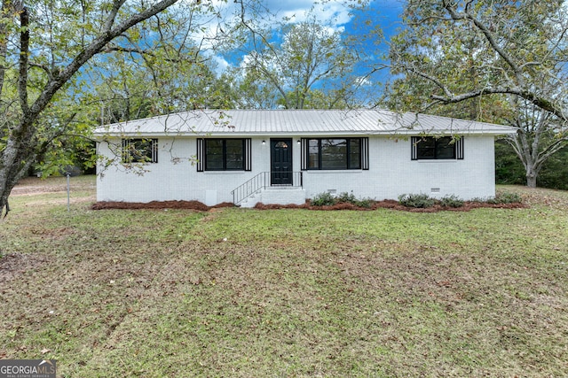
[[[98,127],[95,135],[505,135],[516,131],[485,122],[383,110],[201,110],[106,125]]]

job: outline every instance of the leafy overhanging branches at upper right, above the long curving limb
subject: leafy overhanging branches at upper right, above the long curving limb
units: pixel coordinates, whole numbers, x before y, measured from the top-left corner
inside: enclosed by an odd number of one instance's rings
[[[430,83],[429,107],[519,96],[568,120],[568,12],[555,0],[411,0],[392,43],[394,73]]]

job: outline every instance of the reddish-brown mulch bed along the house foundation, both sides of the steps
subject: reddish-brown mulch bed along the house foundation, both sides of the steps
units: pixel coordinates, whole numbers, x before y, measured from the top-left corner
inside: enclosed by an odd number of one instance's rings
[[[148,203],[142,202],[97,202],[91,205],[92,210],[105,209],[189,209],[200,212],[208,212],[211,209],[221,207],[233,207],[230,202],[208,206],[199,201],[152,201]],[[444,207],[439,204],[425,209],[411,208],[398,204],[395,200],[376,201],[370,207],[359,207],[350,203],[334,204],[332,206],[313,206],[309,202],[305,204],[256,204],[256,210],[274,210],[274,209],[308,209],[308,210],[376,210],[376,209],[393,209],[405,212],[469,212],[471,209],[479,209],[483,207],[499,208],[499,209],[517,209],[526,208],[526,204],[487,204],[483,202],[465,202],[461,207]]]

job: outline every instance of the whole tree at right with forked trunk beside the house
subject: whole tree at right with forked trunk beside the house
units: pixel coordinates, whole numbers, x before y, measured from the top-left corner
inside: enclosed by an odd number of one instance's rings
[[[509,142],[535,186],[568,137],[567,13],[563,0],[410,0],[406,27],[391,40],[390,67],[401,76],[387,103],[509,121],[519,127]]]

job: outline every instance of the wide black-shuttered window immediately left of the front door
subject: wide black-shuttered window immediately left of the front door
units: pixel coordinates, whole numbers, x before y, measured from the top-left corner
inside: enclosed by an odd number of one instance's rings
[[[198,139],[197,170],[249,171],[250,139]]]

